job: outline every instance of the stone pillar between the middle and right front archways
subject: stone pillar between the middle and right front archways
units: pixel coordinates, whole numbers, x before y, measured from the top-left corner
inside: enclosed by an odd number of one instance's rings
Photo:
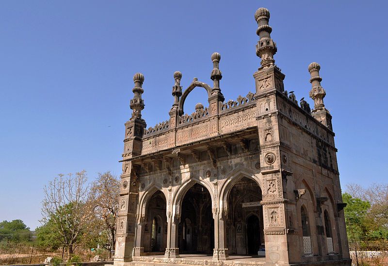
[[[226,246],[226,217],[227,213],[220,212],[214,215],[214,249],[213,260],[228,260]]]

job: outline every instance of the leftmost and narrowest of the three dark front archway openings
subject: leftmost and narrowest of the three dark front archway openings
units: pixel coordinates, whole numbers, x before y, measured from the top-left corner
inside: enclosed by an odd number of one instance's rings
[[[166,198],[162,191],[155,192],[147,204],[144,230],[144,251],[163,253],[167,245]]]

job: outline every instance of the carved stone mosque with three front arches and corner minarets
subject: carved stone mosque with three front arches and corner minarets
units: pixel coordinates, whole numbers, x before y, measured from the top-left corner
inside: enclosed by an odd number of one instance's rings
[[[284,88],[269,18],[255,13],[256,90],[236,100],[225,101],[215,52],[213,84],[183,90],[176,71],[170,118],[146,129],[145,78],[134,75],[114,266],[350,265],[321,66],[307,67],[310,109]],[[196,87],[208,102],[188,114]]]

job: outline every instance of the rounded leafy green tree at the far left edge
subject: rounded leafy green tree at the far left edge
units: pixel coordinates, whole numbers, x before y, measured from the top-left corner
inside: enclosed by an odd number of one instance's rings
[[[2,221],[0,223],[0,241],[25,242],[30,241],[32,232],[22,220]]]

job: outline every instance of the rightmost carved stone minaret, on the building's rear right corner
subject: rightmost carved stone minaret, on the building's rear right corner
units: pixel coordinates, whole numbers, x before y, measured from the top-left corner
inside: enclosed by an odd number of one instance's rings
[[[323,98],[326,96],[326,91],[321,86],[322,78],[319,76],[319,70],[321,66],[313,62],[308,65],[308,72],[310,72],[311,90],[309,96],[314,100],[314,109],[311,111],[311,115],[314,116],[323,125],[332,129],[331,118],[329,111],[324,107]]]

